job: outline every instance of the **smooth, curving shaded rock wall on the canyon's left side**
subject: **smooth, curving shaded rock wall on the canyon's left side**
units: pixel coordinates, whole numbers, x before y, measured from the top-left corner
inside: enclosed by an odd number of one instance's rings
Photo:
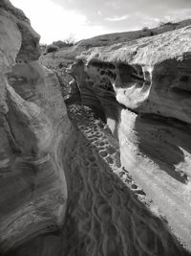
[[[67,185],[61,151],[71,125],[39,35],[0,2],[0,252],[62,225]],[[63,133],[63,129],[66,133]]]

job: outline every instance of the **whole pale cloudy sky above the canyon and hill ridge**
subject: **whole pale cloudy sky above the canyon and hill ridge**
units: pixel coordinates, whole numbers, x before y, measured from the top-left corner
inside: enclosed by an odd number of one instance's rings
[[[11,0],[41,43],[155,27],[191,18],[191,0]]]

